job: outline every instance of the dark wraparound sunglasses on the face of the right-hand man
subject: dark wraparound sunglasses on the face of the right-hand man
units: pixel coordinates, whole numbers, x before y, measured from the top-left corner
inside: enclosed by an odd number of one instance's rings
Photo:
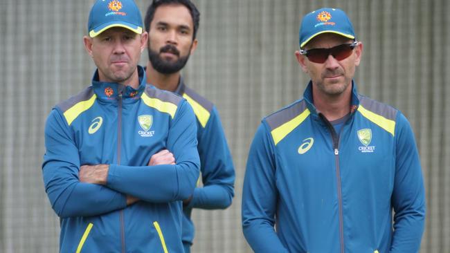
[[[332,55],[334,59],[341,61],[352,54],[352,50],[355,46],[357,46],[357,44],[358,41],[353,41],[353,43],[341,44],[332,48],[312,48],[309,50],[300,49],[300,54],[306,55],[311,62],[316,62],[319,64],[323,64],[328,59],[328,55]]]

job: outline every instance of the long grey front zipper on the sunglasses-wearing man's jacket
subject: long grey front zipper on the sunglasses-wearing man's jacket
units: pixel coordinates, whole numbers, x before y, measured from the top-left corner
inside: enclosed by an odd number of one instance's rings
[[[319,114],[322,120],[327,124],[328,129],[331,131],[333,149],[334,149],[334,160],[336,162],[336,181],[337,181],[337,195],[338,195],[338,203],[339,203],[339,239],[341,243],[341,253],[344,253],[344,229],[343,229],[343,211],[342,211],[342,191],[341,191],[341,170],[339,169],[339,142],[341,139],[341,135],[337,136],[334,127],[330,123],[330,121],[325,118],[325,116],[320,113]],[[342,131],[342,129],[341,129]]]

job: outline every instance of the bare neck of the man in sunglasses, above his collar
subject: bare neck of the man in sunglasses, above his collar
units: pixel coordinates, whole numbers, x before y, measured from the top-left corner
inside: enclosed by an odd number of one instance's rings
[[[321,93],[313,86],[312,97],[316,109],[329,121],[339,120],[350,113],[350,103],[352,102],[351,85],[339,95],[327,95]]]

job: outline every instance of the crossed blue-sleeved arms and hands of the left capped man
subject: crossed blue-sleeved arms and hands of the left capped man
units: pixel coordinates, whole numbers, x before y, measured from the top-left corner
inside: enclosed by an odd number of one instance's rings
[[[150,165],[150,159],[147,165],[139,167],[82,167],[70,127],[61,111],[53,110],[46,122],[42,174],[57,215],[95,216],[123,209],[137,200],[167,203],[189,198],[199,176],[197,129],[190,106],[182,102],[178,110],[166,142],[177,164],[169,163],[170,158],[163,156],[156,158],[155,165]]]

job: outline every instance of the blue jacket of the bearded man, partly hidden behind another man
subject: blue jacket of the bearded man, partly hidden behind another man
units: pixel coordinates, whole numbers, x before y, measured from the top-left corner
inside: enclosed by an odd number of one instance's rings
[[[203,187],[194,190],[189,205],[183,207],[183,243],[192,244],[195,227],[192,208],[224,209],[234,196],[235,169],[219,113],[214,104],[188,88],[180,77],[175,93],[188,100],[197,118],[197,149]]]

